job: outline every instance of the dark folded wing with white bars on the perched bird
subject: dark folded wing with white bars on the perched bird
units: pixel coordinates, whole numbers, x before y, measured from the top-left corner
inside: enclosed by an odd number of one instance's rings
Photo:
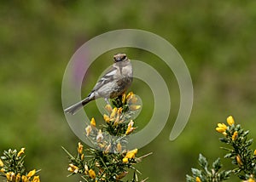
[[[96,83],[95,87],[92,89],[91,92],[102,88],[103,85],[106,85],[108,82],[113,82],[114,75],[116,75],[118,69],[116,67],[111,67],[103,77]]]

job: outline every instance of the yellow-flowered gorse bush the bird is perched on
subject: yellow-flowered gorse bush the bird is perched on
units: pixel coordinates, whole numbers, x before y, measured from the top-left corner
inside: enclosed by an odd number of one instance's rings
[[[84,149],[79,142],[75,156],[63,148],[69,157],[70,175],[79,174],[84,181],[122,181],[132,171],[132,179],[125,181],[139,181],[140,172],[134,166],[144,156],[137,157],[138,150],[129,151],[126,145],[129,134],[136,130],[132,117],[140,108],[135,94],[123,94],[113,99],[112,105],[105,106],[104,124],[97,128],[95,119],[91,118],[84,135],[92,146]]]

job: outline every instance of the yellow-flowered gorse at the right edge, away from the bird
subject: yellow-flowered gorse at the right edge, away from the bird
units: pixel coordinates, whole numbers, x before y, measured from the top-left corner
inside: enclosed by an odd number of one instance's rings
[[[232,168],[230,170],[222,170],[222,164],[219,158],[209,167],[207,158],[200,154],[200,169],[192,168],[192,176],[187,175],[187,182],[220,182],[230,179],[230,175],[234,174],[243,181],[254,182],[256,178],[256,150],[250,149],[253,139],[248,139],[248,130],[241,128],[241,125],[235,124],[233,117],[227,118],[227,124],[218,123],[216,131],[223,134],[219,140],[227,145],[221,147],[227,153],[224,158],[231,161]]]

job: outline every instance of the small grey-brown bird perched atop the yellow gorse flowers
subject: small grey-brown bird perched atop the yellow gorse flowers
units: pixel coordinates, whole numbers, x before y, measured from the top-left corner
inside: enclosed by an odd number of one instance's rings
[[[115,54],[113,56],[112,67],[104,74],[104,76],[96,83],[90,94],[79,103],[68,107],[64,110],[67,113],[75,114],[84,105],[91,100],[104,98],[108,103],[108,99],[118,97],[125,93],[132,82],[132,66],[126,54]]]

